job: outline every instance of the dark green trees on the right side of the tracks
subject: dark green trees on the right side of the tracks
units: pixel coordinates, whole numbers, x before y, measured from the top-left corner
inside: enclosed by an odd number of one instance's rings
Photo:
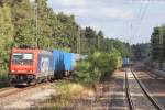
[[[136,59],[147,58],[161,66],[165,61],[165,25],[154,28],[151,43],[132,45],[132,51]]]

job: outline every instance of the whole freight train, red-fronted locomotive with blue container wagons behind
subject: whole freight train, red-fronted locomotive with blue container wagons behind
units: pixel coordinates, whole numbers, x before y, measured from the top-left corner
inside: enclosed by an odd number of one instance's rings
[[[58,50],[13,48],[9,63],[11,84],[37,84],[69,76],[76,62],[82,58],[79,54]]]

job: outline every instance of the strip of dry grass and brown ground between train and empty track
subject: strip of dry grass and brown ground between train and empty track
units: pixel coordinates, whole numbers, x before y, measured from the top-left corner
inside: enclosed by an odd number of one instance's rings
[[[69,80],[56,84],[57,95],[37,105],[34,110],[110,110],[127,109],[124,72],[102,76],[95,87]]]

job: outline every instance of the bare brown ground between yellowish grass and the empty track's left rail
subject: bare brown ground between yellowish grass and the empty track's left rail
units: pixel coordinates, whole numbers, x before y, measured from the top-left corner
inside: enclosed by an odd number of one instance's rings
[[[76,101],[73,110],[127,110],[124,96],[124,72],[102,75],[94,97],[82,97]]]

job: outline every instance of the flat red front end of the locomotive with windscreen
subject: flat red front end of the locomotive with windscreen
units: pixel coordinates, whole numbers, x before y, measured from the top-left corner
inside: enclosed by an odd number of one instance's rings
[[[30,84],[35,80],[35,53],[37,50],[13,48],[10,55],[9,79],[11,84]]]

